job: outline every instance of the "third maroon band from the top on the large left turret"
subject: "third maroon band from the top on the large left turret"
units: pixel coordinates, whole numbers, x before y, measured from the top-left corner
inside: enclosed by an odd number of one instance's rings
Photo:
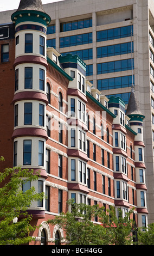
[[[41,137],[46,139],[46,141],[48,139],[46,130],[41,128],[36,128],[36,127],[24,127],[24,128],[15,129],[12,134],[12,139],[17,137],[24,137],[24,136]]]

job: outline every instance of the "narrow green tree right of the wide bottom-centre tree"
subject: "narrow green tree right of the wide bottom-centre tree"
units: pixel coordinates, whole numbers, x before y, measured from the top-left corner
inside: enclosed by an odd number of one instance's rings
[[[121,209],[118,209],[118,217],[116,216],[116,210],[113,206],[110,206],[110,210],[107,210],[109,214],[100,216],[102,225],[106,228],[110,245],[132,245],[132,225],[133,220],[130,219],[130,215],[133,212],[131,209],[126,213],[126,216],[122,216]]]

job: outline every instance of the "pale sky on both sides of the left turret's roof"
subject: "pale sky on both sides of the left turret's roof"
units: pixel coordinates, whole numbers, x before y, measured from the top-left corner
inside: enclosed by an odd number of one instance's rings
[[[60,2],[63,0],[42,0],[42,4]],[[0,11],[17,9],[20,4],[20,0],[0,0]]]

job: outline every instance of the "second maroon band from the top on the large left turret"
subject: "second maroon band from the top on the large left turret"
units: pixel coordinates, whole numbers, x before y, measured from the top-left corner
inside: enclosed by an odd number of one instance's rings
[[[16,101],[20,101],[20,100],[39,100],[39,101],[43,101],[44,103],[46,103],[46,105],[48,105],[48,99],[46,94],[41,93],[41,92],[19,92],[16,93],[14,95],[14,99],[12,101],[12,103],[15,103]]]

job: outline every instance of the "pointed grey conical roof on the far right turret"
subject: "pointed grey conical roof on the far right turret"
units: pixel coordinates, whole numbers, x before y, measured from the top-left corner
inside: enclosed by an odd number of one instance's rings
[[[131,87],[131,95],[130,95],[129,104],[127,106],[127,111],[126,111],[126,115],[132,115],[132,114],[134,114],[134,115],[143,115],[140,112],[139,102],[138,102],[137,97],[135,95],[133,84],[132,84],[132,87]]]

